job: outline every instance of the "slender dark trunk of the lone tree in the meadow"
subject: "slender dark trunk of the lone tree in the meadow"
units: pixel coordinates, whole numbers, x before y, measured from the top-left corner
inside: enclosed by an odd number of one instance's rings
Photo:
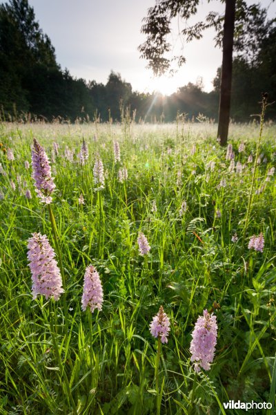
[[[220,145],[227,144],[228,127],[230,120],[230,100],[232,82],[232,55],[234,43],[236,0],[226,0],[224,17],[224,38],[222,41],[222,66],[219,98],[219,125],[217,138]]]

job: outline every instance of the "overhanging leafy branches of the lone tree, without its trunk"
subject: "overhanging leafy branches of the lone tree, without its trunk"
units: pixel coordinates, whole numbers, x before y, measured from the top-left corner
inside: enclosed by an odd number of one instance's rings
[[[219,0],[224,3],[225,0]],[[222,47],[224,33],[224,14],[209,12],[204,21],[198,21],[192,26],[186,22],[197,14],[200,7],[199,0],[161,0],[148,9],[148,16],[143,19],[141,33],[146,35],[146,41],[139,46],[141,57],[148,61],[148,67],[155,75],[162,75],[170,70],[171,65],[177,62],[179,66],[186,62],[180,55],[169,56],[173,44],[169,40],[172,32],[172,20],[178,17],[183,22],[179,36],[184,42],[201,39],[204,30],[215,28],[215,46]],[[248,5],[244,0],[237,0],[235,4],[234,50],[238,56],[252,60],[258,53],[262,39],[265,39],[275,19],[267,19],[267,10],[260,4]],[[185,23],[185,24],[184,24]]]

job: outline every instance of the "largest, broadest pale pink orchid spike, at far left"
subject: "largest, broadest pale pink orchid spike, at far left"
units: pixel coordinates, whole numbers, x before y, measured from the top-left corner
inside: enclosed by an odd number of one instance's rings
[[[45,295],[46,299],[54,297],[57,301],[64,290],[61,273],[55,260],[55,251],[50,246],[46,235],[33,233],[28,240],[28,259],[32,273],[32,298]]]

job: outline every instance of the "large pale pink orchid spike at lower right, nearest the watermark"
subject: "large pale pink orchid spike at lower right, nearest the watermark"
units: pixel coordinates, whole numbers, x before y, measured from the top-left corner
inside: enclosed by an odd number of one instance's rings
[[[217,317],[204,310],[203,316],[199,316],[192,333],[193,340],[190,343],[190,360],[195,362],[195,371],[210,370],[210,363],[215,356],[217,343]]]

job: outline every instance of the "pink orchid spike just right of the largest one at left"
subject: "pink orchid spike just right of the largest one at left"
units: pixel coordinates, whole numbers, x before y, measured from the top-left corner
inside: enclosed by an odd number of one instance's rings
[[[81,308],[86,311],[89,307],[91,313],[98,308],[101,311],[103,304],[103,288],[101,286],[101,280],[99,274],[94,266],[89,265],[86,268],[83,282],[83,295],[81,298]]]

